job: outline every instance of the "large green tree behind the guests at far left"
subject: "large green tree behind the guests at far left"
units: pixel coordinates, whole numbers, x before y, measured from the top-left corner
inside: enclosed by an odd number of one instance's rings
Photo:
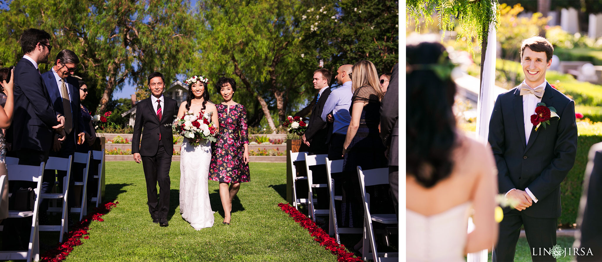
[[[126,81],[144,86],[149,72],[161,71],[167,81],[183,70],[190,56],[182,50],[196,47],[196,21],[189,10],[189,1],[14,0],[0,11],[0,64],[22,57],[17,41],[23,30],[45,30],[54,49],[52,63],[41,70],[54,64],[57,50],[75,51],[81,61],[76,75],[95,89],[87,104],[99,100],[104,112],[113,91]]]

